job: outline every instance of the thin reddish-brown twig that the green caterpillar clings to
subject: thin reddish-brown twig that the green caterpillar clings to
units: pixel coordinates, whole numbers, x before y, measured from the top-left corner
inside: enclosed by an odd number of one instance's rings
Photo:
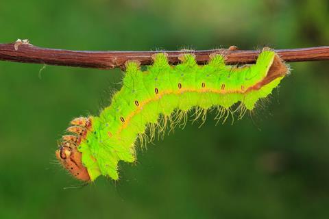
[[[234,48],[234,47],[233,47]],[[275,50],[285,62],[306,62],[329,60],[329,47],[311,47],[303,49]],[[74,66],[84,68],[123,68],[128,60],[138,60],[142,65],[152,62],[154,53],[168,53],[171,64],[178,64],[178,57],[186,51],[71,51],[63,49],[47,49],[35,47],[27,40],[8,44],[0,44],[0,60],[11,62],[26,62],[58,66]],[[251,64],[256,61],[260,51],[212,49],[188,51],[196,55],[198,64],[205,64],[211,53],[225,55],[226,64]]]

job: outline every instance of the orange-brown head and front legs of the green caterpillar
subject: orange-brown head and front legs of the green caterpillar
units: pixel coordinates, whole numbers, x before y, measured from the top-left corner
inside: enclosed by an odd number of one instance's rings
[[[60,164],[68,170],[73,177],[82,181],[90,181],[88,170],[82,164],[82,153],[77,151],[77,146],[86,138],[86,133],[90,127],[90,119],[80,117],[71,122],[71,127],[67,129],[75,135],[62,137],[60,148],[56,151],[56,157]]]

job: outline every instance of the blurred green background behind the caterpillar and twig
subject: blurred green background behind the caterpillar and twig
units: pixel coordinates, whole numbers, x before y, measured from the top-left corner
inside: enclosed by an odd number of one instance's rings
[[[6,1],[0,42],[77,50],[329,44],[329,3]],[[138,150],[121,180],[80,185],[55,162],[69,120],[97,114],[120,70],[0,62],[0,218],[329,218],[329,62],[291,64],[267,107]]]

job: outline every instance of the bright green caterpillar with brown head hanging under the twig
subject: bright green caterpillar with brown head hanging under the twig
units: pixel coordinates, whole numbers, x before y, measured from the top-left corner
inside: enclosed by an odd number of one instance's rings
[[[56,157],[76,179],[89,182],[103,175],[117,180],[118,162],[136,161],[138,139],[143,144],[156,130],[164,133],[186,123],[191,109],[202,121],[209,110],[217,110],[217,120],[237,112],[242,117],[289,73],[289,66],[268,48],[256,64],[245,66],[226,65],[224,55],[216,53],[202,66],[192,53],[181,55],[176,66],[168,63],[166,53],[152,58],[145,71],[138,62],[126,62],[123,86],[99,116],[71,121],[71,134],[62,137]]]

